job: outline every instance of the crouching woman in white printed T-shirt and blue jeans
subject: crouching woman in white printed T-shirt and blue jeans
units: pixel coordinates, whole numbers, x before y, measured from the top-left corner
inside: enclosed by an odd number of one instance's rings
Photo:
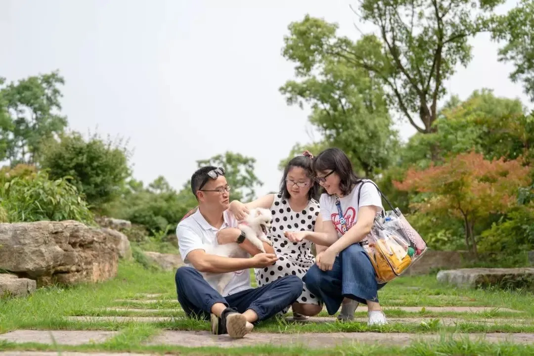
[[[328,246],[317,255],[302,279],[312,294],[319,296],[328,314],[333,315],[343,299],[342,314],[354,310],[358,302],[367,304],[368,325],[386,324],[386,316],[378,302],[378,284],[374,268],[358,242],[371,231],[377,213],[382,211],[382,199],[376,187],[362,186],[364,180],[352,170],[349,158],[339,148],[328,148],[313,160],[316,180],[325,189],[319,200],[323,232],[287,233],[290,241],[313,241]],[[343,308],[345,311],[343,312]]]

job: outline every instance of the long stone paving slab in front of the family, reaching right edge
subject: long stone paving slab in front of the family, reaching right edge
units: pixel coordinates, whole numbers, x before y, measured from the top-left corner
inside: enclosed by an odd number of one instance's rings
[[[454,334],[455,339],[469,337],[472,341],[485,339],[488,342],[510,341],[521,344],[534,343],[534,334],[491,333],[491,334]],[[413,341],[439,340],[438,334],[408,334],[408,333],[301,333],[274,334],[250,333],[242,339],[232,339],[228,335],[212,335],[208,331],[163,331],[160,335],[148,341],[147,345],[179,345],[189,347],[219,346],[239,347],[250,345],[284,345],[305,346],[312,349],[350,345],[356,343],[380,345],[408,345]]]

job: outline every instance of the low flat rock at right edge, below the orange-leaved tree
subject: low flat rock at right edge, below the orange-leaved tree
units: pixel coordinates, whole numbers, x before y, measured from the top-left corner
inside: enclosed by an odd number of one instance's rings
[[[460,268],[437,273],[438,282],[457,287],[534,287],[534,268]]]

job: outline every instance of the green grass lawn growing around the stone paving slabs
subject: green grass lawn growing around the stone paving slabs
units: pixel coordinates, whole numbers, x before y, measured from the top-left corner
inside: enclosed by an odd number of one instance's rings
[[[254,276],[251,271],[251,277]],[[144,294],[162,294],[147,297]],[[398,278],[379,291],[384,307],[390,306],[486,306],[486,312],[432,312],[421,310],[407,312],[387,309],[388,318],[431,318],[426,322],[390,322],[383,327],[367,327],[366,323],[299,323],[285,319],[272,319],[257,325],[255,333],[412,333],[443,334],[452,333],[534,333],[534,296],[524,290],[470,290],[451,288],[437,283],[435,275],[405,276]],[[117,302],[117,299],[131,299],[137,302]],[[155,303],[142,303],[142,300],[158,299]],[[226,349],[194,349],[171,346],[147,346],[143,342],[161,330],[208,330],[208,323],[185,318],[185,313],[176,300],[174,272],[162,272],[143,268],[137,263],[121,262],[119,274],[112,281],[86,284],[67,289],[56,287],[38,289],[27,298],[0,300],[0,333],[16,329],[93,329],[119,330],[120,334],[103,344],[82,346],[61,346],[61,350],[77,351],[131,351],[184,354],[226,354]],[[110,307],[139,308],[145,311],[106,310]],[[499,311],[499,307],[512,308],[520,312]],[[147,312],[154,309],[155,312]],[[73,315],[93,316],[136,316],[174,317],[163,322],[137,321],[72,321]],[[327,316],[321,312],[320,316]],[[366,317],[358,312],[356,317]],[[457,318],[454,325],[444,326],[441,318]],[[502,322],[480,323],[484,319],[500,319]],[[514,320],[525,320],[514,324]],[[508,322],[508,323],[507,323]],[[52,346],[35,344],[10,344],[0,342],[0,350],[53,350]],[[232,354],[534,354],[532,347],[521,345],[498,345],[491,343],[464,343],[441,341],[436,343],[412,343],[401,349],[392,346],[351,346],[349,349],[306,351],[301,349],[277,349],[274,346],[232,348]]]

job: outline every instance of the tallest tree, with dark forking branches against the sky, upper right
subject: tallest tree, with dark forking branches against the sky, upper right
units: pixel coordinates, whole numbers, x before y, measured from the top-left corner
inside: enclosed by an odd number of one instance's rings
[[[337,24],[306,15],[290,23],[283,55],[299,62],[302,74],[325,56],[367,70],[387,89],[392,107],[417,131],[429,133],[434,131],[437,103],[446,94],[443,83],[457,64],[467,66],[472,58],[469,38],[489,29],[487,14],[503,1],[362,0],[358,15],[378,28],[378,36],[362,33],[355,43],[336,35]]]

